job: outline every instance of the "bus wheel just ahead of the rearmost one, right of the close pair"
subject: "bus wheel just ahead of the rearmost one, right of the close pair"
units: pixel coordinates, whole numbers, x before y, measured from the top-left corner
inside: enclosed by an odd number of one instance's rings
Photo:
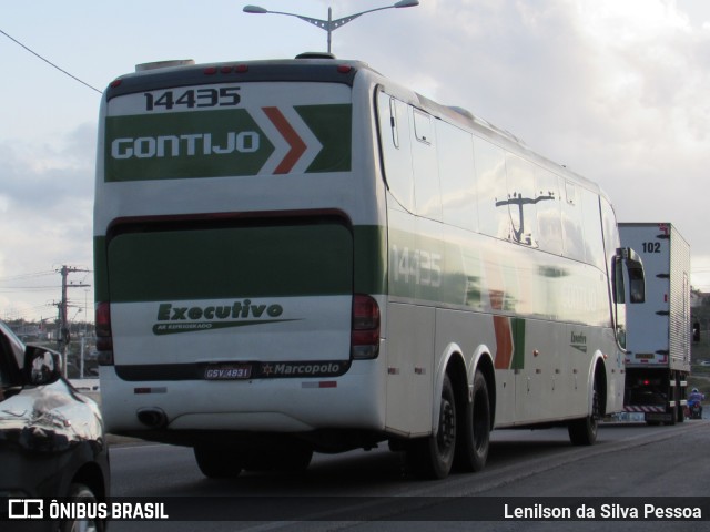
[[[490,447],[490,398],[486,378],[476,370],[473,401],[466,401],[456,442],[456,468],[466,472],[484,469]]]

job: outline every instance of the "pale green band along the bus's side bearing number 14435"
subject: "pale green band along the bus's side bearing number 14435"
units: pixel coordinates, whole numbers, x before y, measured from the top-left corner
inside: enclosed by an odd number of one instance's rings
[[[496,238],[471,238],[464,231],[459,235],[445,239],[390,228],[388,294],[474,311],[608,326],[607,283],[596,267]]]

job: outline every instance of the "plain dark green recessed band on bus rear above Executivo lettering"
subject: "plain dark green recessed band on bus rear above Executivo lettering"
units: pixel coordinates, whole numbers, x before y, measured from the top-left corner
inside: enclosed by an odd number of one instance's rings
[[[108,249],[113,303],[352,294],[341,225],[125,233]]]

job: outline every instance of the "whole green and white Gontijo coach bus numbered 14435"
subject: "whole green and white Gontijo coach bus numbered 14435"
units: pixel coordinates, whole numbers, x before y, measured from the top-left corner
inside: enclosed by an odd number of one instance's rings
[[[643,274],[608,198],[362,62],[139,65],[94,214],[108,430],[207,477],[388,441],[443,478],[495,428],[590,444],[622,409]]]

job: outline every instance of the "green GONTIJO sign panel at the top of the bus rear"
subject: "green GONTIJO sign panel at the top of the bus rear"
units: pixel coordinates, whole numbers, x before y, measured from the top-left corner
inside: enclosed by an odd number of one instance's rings
[[[294,109],[321,146],[306,173],[349,172],[352,105]],[[284,142],[284,131],[276,131],[277,126],[271,132],[258,126],[252,113],[260,112],[234,109],[109,116],[105,120],[104,181],[257,175],[274,154],[275,143]],[[300,141],[303,145],[295,152],[284,152],[284,157],[295,153],[293,156],[300,158],[306,149],[317,149],[317,144],[306,144],[306,132],[300,131],[303,124],[288,123],[288,126],[297,139],[286,141]]]

